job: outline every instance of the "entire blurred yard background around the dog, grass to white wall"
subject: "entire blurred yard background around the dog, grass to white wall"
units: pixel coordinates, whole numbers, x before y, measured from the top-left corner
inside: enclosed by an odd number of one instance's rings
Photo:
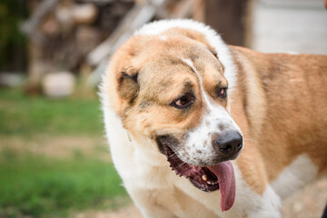
[[[0,217],[141,217],[111,163],[97,84],[134,30],[179,17],[230,45],[327,54],[323,0],[1,0]],[[283,217],[326,203],[325,179]]]

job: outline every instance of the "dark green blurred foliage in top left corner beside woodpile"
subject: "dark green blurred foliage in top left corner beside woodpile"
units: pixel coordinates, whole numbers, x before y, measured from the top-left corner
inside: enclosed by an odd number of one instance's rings
[[[19,30],[28,0],[0,1],[0,71],[25,71],[26,38]]]

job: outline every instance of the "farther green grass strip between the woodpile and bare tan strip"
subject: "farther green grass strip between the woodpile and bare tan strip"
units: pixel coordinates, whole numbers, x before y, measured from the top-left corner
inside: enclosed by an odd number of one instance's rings
[[[97,99],[45,99],[0,89],[0,134],[104,134]]]

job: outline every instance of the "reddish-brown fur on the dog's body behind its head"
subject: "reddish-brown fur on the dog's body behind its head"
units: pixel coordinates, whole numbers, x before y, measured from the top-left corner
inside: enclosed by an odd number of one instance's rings
[[[327,57],[231,48],[239,70],[240,88],[232,106],[236,123],[242,121],[239,125],[245,138],[243,154],[237,160],[244,179],[250,184],[258,178],[273,181],[299,154],[308,154],[319,172],[325,171]],[[258,83],[249,84],[249,77]],[[239,93],[242,90],[244,94]],[[259,98],[258,92],[263,92]],[[253,107],[252,101],[258,99],[264,101]],[[252,160],[247,160],[250,156]],[[253,176],[256,172],[262,173]]]

